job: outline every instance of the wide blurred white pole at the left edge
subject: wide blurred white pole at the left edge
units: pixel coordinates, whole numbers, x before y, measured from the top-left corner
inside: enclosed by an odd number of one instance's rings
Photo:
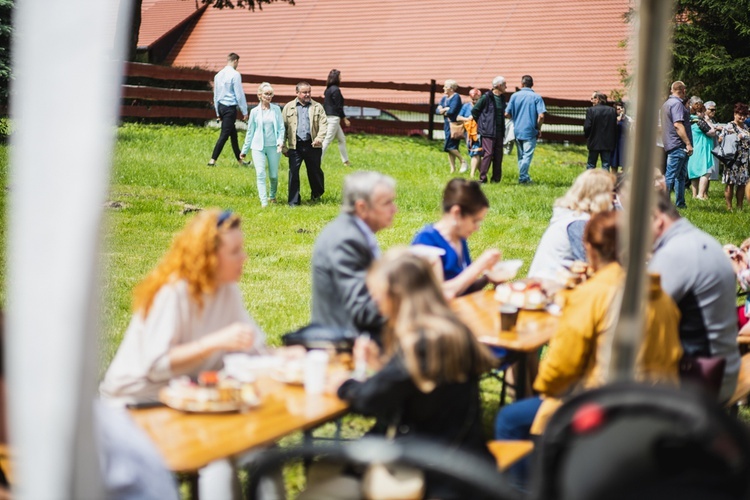
[[[14,498],[104,498],[92,435],[99,230],[130,1],[18,0],[11,116]]]

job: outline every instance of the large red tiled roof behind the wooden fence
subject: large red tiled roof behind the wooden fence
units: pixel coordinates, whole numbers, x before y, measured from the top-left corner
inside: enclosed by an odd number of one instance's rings
[[[297,0],[254,12],[209,8],[167,63],[219,69],[236,52],[241,72],[325,79],[337,68],[344,88],[347,80],[432,78],[487,88],[503,75],[512,91],[530,74],[542,96],[587,99],[593,90],[623,87],[618,69],[627,60],[630,1]]]

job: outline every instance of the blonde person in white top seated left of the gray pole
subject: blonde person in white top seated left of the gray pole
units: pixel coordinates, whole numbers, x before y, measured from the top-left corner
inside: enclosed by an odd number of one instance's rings
[[[576,178],[554,203],[552,219],[529,267],[530,278],[555,273],[574,260],[586,260],[586,221],[593,214],[612,209],[614,187],[614,176],[604,170],[587,170]]]

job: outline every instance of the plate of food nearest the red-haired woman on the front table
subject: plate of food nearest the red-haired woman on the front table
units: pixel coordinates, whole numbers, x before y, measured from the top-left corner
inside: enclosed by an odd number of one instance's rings
[[[225,378],[216,372],[203,372],[199,379],[199,383],[189,377],[171,380],[159,391],[159,401],[191,413],[226,413],[260,405],[255,384]]]

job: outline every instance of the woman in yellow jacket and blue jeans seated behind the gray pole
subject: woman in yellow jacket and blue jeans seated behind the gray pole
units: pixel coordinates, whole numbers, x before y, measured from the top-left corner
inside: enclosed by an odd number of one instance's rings
[[[495,421],[496,439],[528,439],[531,433],[541,433],[561,404],[560,398],[606,382],[616,312],[613,305],[625,281],[625,271],[617,262],[616,212],[591,217],[584,246],[594,275],[567,296],[560,326],[534,381],[534,390],[540,395],[503,408]],[[677,330],[680,313],[662,291],[657,275],[650,277],[645,319],[636,379],[676,385],[682,357]]]

